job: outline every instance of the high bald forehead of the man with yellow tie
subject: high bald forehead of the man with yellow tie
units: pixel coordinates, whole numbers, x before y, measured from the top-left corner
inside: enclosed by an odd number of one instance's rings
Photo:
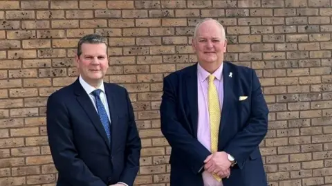
[[[197,29],[196,37],[222,37],[221,27],[213,21],[206,21]]]

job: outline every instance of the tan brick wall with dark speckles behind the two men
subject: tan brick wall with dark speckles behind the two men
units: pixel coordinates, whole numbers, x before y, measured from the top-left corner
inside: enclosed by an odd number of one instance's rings
[[[195,62],[203,17],[226,28],[226,59],[257,70],[270,108],[261,152],[270,186],[332,185],[332,0],[1,1],[0,185],[55,185],[48,95],[76,79],[77,40],[109,37],[107,81],[130,92],[142,158],[137,185],[166,186],[163,77]]]

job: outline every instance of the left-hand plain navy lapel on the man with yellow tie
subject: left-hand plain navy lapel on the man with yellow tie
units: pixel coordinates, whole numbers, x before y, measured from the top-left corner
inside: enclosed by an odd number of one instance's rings
[[[194,130],[194,136],[197,137],[197,128],[198,128],[198,115],[199,115],[199,103],[198,103],[198,94],[197,94],[197,64],[192,66],[187,72],[185,77],[186,87],[186,96],[188,99],[188,105],[190,108],[190,115],[192,119],[192,127]]]

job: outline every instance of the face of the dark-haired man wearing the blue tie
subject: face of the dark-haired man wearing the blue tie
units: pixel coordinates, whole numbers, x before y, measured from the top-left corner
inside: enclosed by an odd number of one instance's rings
[[[76,56],[77,68],[83,80],[94,84],[102,80],[109,68],[105,44],[82,44],[82,54]]]

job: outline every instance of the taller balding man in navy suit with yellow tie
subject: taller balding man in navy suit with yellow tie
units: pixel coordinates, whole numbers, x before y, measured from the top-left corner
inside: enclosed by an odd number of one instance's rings
[[[255,71],[223,61],[214,19],[196,26],[192,46],[198,63],[165,77],[160,105],[171,186],[267,186],[259,144],[268,107]]]

